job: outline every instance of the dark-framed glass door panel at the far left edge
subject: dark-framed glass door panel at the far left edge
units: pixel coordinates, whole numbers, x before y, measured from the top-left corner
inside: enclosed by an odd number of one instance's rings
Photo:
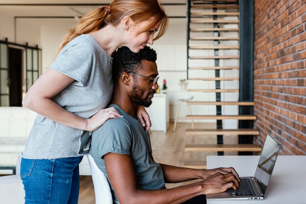
[[[0,106],[9,106],[8,45],[0,43]]]

